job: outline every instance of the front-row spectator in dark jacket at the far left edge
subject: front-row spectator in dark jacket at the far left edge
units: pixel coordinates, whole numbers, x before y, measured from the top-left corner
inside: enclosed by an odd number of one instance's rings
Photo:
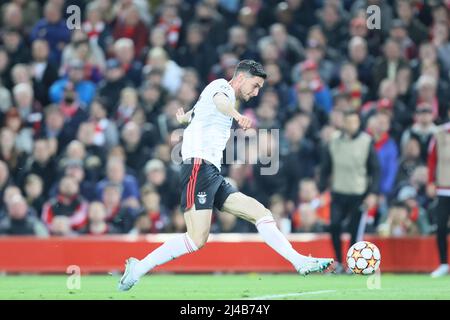
[[[30,214],[28,205],[21,195],[16,195],[7,204],[8,216],[0,220],[0,235],[48,236],[45,226],[36,216]]]

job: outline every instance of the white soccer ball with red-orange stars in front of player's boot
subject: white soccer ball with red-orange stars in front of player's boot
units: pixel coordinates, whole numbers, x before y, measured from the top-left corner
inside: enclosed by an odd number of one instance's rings
[[[347,266],[355,274],[372,274],[380,263],[380,250],[371,242],[359,241],[348,249]]]

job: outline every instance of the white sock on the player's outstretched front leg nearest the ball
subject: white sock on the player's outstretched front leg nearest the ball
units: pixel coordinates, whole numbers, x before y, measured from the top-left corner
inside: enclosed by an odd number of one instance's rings
[[[271,216],[266,216],[255,223],[258,232],[263,237],[264,241],[283,258],[288,260],[298,270],[300,266],[308,259],[308,257],[301,255],[292,248],[290,242],[277,228],[275,220]]]

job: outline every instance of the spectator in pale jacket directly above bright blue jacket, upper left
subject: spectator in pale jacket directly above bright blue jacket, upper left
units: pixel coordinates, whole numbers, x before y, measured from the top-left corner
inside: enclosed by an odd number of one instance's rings
[[[79,59],[84,62],[84,79],[98,83],[105,71],[105,54],[95,43],[90,42],[88,35],[82,30],[72,33],[71,42],[64,47],[60,73],[66,73],[70,61]]]

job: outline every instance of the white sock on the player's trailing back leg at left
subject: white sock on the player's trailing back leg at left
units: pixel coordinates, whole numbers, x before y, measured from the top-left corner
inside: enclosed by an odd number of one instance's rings
[[[134,269],[134,277],[139,279],[156,266],[169,262],[186,253],[197,251],[194,241],[186,233],[176,236],[164,242],[160,247],[152,251],[144,259],[140,260]]]

